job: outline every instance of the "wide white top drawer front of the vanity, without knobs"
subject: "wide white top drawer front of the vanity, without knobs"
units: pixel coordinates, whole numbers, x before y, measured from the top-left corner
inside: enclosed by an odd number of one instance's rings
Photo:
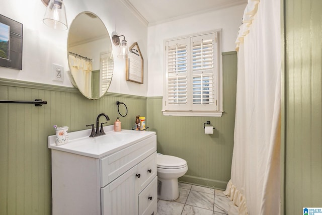
[[[100,159],[101,187],[104,187],[155,151],[156,135],[153,135],[117,153]]]

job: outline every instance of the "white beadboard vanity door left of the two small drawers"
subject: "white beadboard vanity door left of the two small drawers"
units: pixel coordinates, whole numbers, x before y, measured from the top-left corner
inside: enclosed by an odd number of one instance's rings
[[[134,166],[107,186],[101,188],[103,215],[138,215],[136,184],[137,166]]]

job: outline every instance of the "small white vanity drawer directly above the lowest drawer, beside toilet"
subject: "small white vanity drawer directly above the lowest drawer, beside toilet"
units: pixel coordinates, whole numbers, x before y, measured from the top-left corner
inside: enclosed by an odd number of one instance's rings
[[[138,164],[140,174],[138,192],[141,192],[156,176],[156,152]]]

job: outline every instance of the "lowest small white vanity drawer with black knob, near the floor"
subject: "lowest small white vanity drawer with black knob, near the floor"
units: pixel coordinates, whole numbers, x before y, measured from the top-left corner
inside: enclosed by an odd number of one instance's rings
[[[156,214],[157,207],[157,177],[139,194],[139,214]]]

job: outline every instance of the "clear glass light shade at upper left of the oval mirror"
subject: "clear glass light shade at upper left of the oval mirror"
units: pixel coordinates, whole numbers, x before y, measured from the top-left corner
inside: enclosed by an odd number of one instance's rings
[[[68,28],[65,5],[62,0],[50,0],[43,22],[47,26],[58,30],[66,30]]]

